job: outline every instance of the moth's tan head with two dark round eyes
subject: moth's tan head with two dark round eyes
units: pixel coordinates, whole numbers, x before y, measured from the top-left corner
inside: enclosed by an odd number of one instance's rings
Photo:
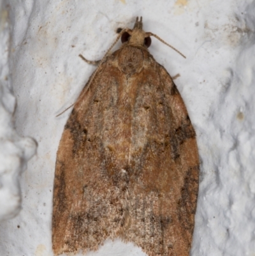
[[[122,31],[121,41],[125,45],[145,47],[147,49],[151,43],[150,34],[143,31],[142,17],[140,17],[140,20],[137,17],[133,29],[124,29]]]

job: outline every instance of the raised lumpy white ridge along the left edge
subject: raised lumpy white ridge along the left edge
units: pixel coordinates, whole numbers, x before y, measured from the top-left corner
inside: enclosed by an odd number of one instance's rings
[[[15,97],[9,70],[11,26],[6,8],[6,3],[0,1],[0,222],[20,211],[20,173],[36,149],[33,139],[20,137],[14,128]]]

